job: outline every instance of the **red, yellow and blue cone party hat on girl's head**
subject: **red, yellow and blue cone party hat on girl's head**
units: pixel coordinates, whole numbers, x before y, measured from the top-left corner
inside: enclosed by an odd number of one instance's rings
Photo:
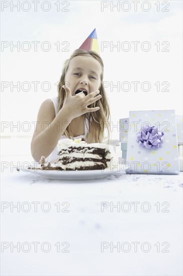
[[[94,51],[99,54],[98,40],[96,36],[96,30],[94,29],[92,33],[86,38],[86,40],[82,43],[79,49],[83,49],[86,51]]]

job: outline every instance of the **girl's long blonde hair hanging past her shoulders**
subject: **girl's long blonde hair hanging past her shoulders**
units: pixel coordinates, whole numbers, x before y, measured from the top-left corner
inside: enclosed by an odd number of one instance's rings
[[[102,97],[99,100],[97,100],[96,102],[89,105],[89,107],[99,106],[100,108],[99,108],[99,110],[97,110],[95,112],[85,113],[84,115],[88,119],[89,126],[90,126],[90,123],[93,124],[93,132],[90,133],[92,136],[93,143],[101,143],[103,141],[103,139],[106,138],[106,137],[104,137],[104,128],[107,129],[108,142],[109,142],[110,112],[109,112],[108,101],[107,101],[105,91],[103,88],[103,84],[102,84],[103,61],[97,53],[95,53],[93,51],[85,51],[85,50],[77,49],[73,52],[73,54],[70,56],[70,58],[64,62],[63,68],[62,68],[62,74],[61,74],[61,77],[60,77],[60,80],[58,83],[58,111],[62,108],[64,99],[65,99],[65,90],[62,88],[62,85],[65,84],[65,75],[68,70],[70,60],[76,56],[92,56],[101,65],[102,73],[100,76],[101,82],[100,82],[99,91],[100,91],[100,94]],[[73,137],[73,133],[72,133],[71,127],[69,125],[65,128],[63,134],[68,138],[70,138],[70,136]]]

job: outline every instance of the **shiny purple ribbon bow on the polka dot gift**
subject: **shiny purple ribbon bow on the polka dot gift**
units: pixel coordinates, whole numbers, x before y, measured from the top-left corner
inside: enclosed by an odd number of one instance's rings
[[[157,131],[157,126],[144,124],[141,131],[136,133],[138,145],[146,149],[157,149],[163,142],[163,132]]]

